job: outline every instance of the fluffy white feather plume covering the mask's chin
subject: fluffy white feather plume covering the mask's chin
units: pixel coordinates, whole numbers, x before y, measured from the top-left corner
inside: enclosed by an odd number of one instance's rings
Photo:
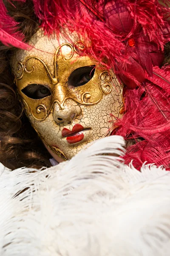
[[[107,137],[44,170],[1,165],[0,255],[169,256],[170,172],[126,166],[124,145]]]

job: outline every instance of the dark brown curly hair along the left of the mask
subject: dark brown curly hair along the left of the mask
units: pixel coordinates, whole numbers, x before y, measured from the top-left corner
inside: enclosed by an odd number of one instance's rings
[[[29,41],[40,25],[32,2],[4,3],[9,15],[19,23],[18,30]],[[17,97],[9,63],[13,50],[0,43],[0,162],[10,169],[49,167],[50,154],[31,127]]]

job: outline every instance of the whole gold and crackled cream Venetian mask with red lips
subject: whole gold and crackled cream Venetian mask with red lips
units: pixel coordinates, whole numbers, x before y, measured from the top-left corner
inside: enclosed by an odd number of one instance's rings
[[[12,69],[26,114],[43,142],[65,159],[111,134],[122,113],[122,86],[112,70],[83,54],[83,41],[47,37],[17,50]],[[111,116],[112,114],[112,116]]]

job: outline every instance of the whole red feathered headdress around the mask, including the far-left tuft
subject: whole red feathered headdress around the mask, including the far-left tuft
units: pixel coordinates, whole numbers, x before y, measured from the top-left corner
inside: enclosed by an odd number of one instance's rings
[[[17,2],[26,0],[12,1]],[[127,148],[127,162],[135,158],[136,166],[145,160],[170,166],[170,71],[161,67],[164,45],[170,41],[170,0],[32,2],[46,34],[58,34],[61,28],[76,31],[91,42],[85,54],[112,68],[127,86],[127,112],[117,122],[116,134],[141,138]],[[19,24],[8,16],[3,0],[0,8],[0,40],[26,48],[23,35],[17,32]],[[150,149],[152,154],[148,154]]]

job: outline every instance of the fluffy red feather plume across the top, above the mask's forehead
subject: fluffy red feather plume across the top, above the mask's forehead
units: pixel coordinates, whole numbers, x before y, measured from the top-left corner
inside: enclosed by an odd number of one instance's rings
[[[169,40],[170,0],[33,0],[35,12],[49,35],[65,25],[91,41],[86,53],[114,68],[133,89],[163,61]],[[130,40],[134,41],[131,45]],[[116,46],[116,47],[115,47]]]

